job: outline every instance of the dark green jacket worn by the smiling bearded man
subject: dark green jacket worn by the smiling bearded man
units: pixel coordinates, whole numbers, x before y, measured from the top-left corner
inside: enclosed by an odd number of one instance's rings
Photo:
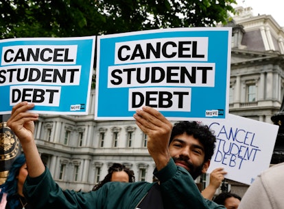
[[[155,170],[154,175],[160,180],[164,208],[224,209],[204,199],[188,171],[176,166],[172,159],[160,171]],[[60,189],[46,169],[37,178],[27,176],[23,193],[33,208],[135,209],[154,184],[108,182],[97,191],[83,193]]]

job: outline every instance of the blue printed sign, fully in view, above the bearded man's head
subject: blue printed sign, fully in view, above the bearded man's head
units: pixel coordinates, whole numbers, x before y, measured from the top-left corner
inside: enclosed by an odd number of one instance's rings
[[[226,118],[230,40],[226,27],[98,36],[95,119],[133,120],[144,105],[169,120]]]

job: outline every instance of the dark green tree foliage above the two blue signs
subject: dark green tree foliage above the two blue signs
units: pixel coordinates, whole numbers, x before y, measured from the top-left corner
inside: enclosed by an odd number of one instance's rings
[[[0,38],[75,37],[167,27],[212,27],[235,0],[3,0]]]

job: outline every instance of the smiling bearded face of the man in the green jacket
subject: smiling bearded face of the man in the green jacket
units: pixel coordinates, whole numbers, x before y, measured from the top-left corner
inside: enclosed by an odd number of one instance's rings
[[[176,165],[187,169],[193,179],[206,173],[210,164],[210,161],[204,162],[203,145],[186,133],[174,137],[169,144],[169,153]]]

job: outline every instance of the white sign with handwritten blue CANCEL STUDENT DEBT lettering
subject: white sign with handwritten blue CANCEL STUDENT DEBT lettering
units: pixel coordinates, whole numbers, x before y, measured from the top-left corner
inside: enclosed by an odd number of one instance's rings
[[[226,120],[202,123],[216,136],[208,173],[224,167],[225,178],[251,184],[270,166],[279,126],[232,114]]]

